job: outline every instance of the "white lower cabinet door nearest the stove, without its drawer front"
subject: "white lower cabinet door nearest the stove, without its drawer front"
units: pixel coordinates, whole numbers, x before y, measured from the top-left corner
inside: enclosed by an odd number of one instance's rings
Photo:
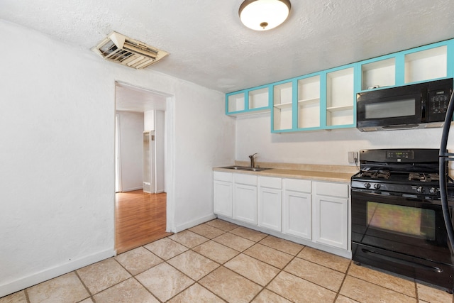
[[[348,199],[314,195],[314,241],[348,249]]]

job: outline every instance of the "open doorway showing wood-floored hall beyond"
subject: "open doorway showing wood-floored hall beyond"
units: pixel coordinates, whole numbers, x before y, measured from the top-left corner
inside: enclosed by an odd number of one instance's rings
[[[165,182],[169,96],[121,82],[115,96],[115,248],[123,253],[171,234]]]

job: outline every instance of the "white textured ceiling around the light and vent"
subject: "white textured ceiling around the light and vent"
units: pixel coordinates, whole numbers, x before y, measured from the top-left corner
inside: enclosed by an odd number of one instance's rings
[[[170,52],[148,69],[220,92],[454,38],[453,0],[291,0],[265,32],[240,23],[242,1],[0,0],[0,18],[86,49],[118,31]]]

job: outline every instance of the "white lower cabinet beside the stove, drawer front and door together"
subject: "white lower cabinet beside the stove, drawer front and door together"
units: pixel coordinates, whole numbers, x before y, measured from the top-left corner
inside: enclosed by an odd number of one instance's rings
[[[348,249],[348,184],[312,182],[314,197],[313,240]]]

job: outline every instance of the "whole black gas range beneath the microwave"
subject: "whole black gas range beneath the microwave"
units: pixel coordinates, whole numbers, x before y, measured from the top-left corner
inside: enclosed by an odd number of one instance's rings
[[[351,178],[352,259],[452,292],[438,162],[438,149],[360,150],[360,172]],[[453,184],[448,178],[448,197]]]

